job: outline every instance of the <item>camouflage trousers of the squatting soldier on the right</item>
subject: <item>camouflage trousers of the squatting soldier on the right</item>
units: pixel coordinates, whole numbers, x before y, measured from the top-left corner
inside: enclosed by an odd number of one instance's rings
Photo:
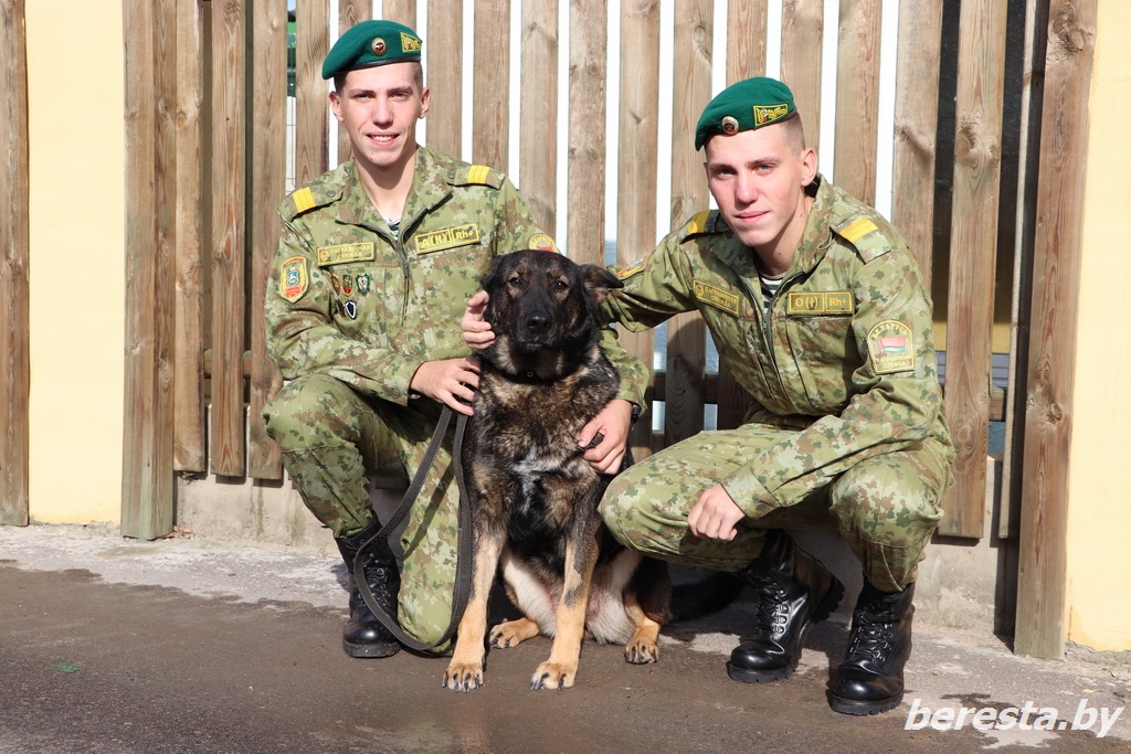
[[[761,553],[767,529],[839,530],[878,589],[895,591],[915,581],[942,518],[939,500],[951,484],[949,454],[933,440],[862,460],[796,504],[743,520],[731,541],[691,534],[688,514],[699,495],[792,432],[746,424],[689,437],[613,479],[601,514],[629,547],[719,571],[749,565]]]

